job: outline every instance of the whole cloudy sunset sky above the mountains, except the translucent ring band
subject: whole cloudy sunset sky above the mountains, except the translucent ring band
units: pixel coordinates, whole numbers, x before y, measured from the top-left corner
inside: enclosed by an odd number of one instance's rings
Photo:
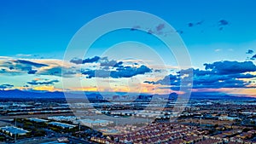
[[[255,96],[255,4],[253,0],[3,0],[0,89],[182,93],[180,83],[190,77],[194,92]],[[133,29],[108,32],[83,57],[65,59],[82,26],[119,10],[154,14],[171,25],[189,52],[189,72],[194,75],[184,74],[177,55],[156,38],[172,34],[166,24],[154,21],[148,24],[152,27],[135,24]],[[99,26],[107,23],[114,25],[107,20]],[[139,31],[142,28],[148,32]],[[93,29],[85,37],[99,31]]]

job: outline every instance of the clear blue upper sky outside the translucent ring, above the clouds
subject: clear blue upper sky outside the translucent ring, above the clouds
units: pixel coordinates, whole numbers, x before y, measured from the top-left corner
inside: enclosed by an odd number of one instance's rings
[[[177,30],[184,31],[184,43],[193,54],[201,55],[215,49],[241,48],[236,44],[255,43],[256,10],[251,1],[1,1],[0,31],[2,55],[63,53],[73,34],[97,16],[116,10],[141,10],[155,14]],[[202,26],[188,27],[189,22],[204,20]],[[218,31],[218,20],[228,20],[230,26]],[[203,31],[203,32],[202,32]],[[222,44],[224,46],[222,46]],[[221,48],[224,47],[224,48]],[[230,48],[229,48],[230,47]],[[205,50],[207,49],[207,50]],[[247,48],[253,49],[253,48]],[[207,53],[211,55],[211,53]],[[214,55],[214,54],[212,54]],[[234,55],[234,54],[230,54]],[[207,56],[201,55],[207,60]],[[208,58],[209,59],[209,58]],[[196,60],[195,60],[196,61]]]

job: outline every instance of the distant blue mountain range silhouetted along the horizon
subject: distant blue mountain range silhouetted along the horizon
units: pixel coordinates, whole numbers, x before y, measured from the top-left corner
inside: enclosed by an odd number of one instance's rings
[[[84,98],[84,95],[87,96],[89,100],[103,100],[105,96],[113,96],[116,95],[114,93],[107,93],[106,95],[101,95],[101,93],[98,92],[83,92],[83,91],[73,91],[73,92],[67,92],[66,93],[69,98]],[[129,95],[129,94],[127,94]],[[134,95],[134,94],[133,94]],[[140,97],[145,96],[153,96],[153,95],[141,95],[137,94]],[[60,91],[55,92],[49,92],[49,91],[38,91],[38,90],[19,90],[19,89],[12,89],[12,90],[0,90],[0,99],[5,98],[18,98],[18,99],[65,99],[65,94]],[[156,97],[166,97],[166,95],[154,95]],[[167,99],[177,99],[179,95],[176,93],[172,93],[169,96],[167,96]],[[218,100],[225,100],[225,99],[248,99],[249,97],[244,97],[245,95],[226,95],[224,93],[195,93],[193,92],[190,95],[190,99],[218,99]],[[150,98],[151,99],[151,98]],[[255,98],[249,98],[249,99],[255,99]]]

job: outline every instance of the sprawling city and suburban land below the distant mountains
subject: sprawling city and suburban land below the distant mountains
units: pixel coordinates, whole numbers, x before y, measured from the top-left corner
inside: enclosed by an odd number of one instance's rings
[[[174,112],[178,108],[174,107],[175,100],[170,99],[161,111],[162,103],[147,101],[116,100],[112,106],[100,100],[87,104],[67,104],[65,99],[2,101],[0,140],[107,144],[256,142],[253,98],[191,99],[180,113]],[[148,109],[143,110],[146,105]],[[74,115],[77,112],[82,114]]]

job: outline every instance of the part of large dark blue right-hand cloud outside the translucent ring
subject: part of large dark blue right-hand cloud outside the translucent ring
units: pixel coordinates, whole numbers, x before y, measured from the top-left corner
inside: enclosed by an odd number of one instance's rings
[[[217,61],[205,64],[204,70],[194,70],[194,89],[200,88],[246,88],[250,82],[241,78],[256,78],[245,72],[255,72],[256,66],[252,61]]]

